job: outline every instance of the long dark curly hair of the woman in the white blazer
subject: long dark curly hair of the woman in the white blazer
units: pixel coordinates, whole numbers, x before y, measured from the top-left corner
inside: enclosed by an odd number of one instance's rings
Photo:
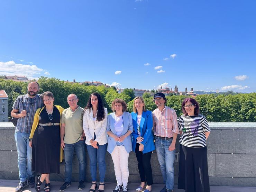
[[[91,112],[91,108],[92,108],[92,103],[91,103],[91,98],[92,95],[96,96],[98,99],[98,107],[97,107],[97,121],[102,121],[105,118],[105,111],[104,111],[104,106],[103,106],[103,102],[102,99],[100,97],[99,93],[92,93],[88,99],[88,102],[84,108],[85,110],[89,110]]]

